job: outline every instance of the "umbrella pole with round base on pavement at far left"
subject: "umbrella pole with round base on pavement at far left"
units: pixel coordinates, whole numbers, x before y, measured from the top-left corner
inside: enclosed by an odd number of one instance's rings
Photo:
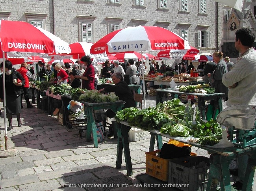
[[[4,142],[5,142],[5,150],[0,151],[0,158],[1,157],[11,157],[18,155],[19,151],[16,149],[8,149],[7,145],[7,125],[6,125],[6,73],[5,73],[5,58],[4,52],[3,53],[3,90],[4,90]]]

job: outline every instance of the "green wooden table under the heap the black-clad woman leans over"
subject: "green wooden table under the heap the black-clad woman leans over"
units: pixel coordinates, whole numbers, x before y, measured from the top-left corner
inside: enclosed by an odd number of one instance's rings
[[[63,125],[64,121],[68,120],[68,110],[67,106],[69,105],[70,100],[72,100],[70,95],[62,95],[61,100],[63,102]],[[78,100],[75,100],[78,101]],[[95,148],[98,148],[98,139],[96,133],[96,125],[93,117],[93,111],[100,109],[112,109],[114,112],[122,110],[124,107],[124,101],[117,102],[100,102],[100,103],[88,103],[83,101],[78,101],[84,106],[84,115],[87,116],[87,131],[86,131],[86,139],[89,142],[91,140],[91,133],[93,133],[93,144]]]

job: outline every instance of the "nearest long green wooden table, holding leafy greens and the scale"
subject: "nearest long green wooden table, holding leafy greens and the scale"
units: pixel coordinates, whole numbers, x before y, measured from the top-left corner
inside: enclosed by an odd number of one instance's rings
[[[122,165],[122,148],[124,148],[124,157],[126,162],[127,175],[132,175],[132,162],[130,156],[130,148],[128,141],[128,131],[132,128],[127,122],[118,122],[118,142],[117,142],[117,162],[116,168],[121,168]],[[135,127],[138,128],[139,127]],[[210,155],[210,170],[208,177],[208,184],[206,191],[216,191],[217,184],[219,182],[221,186],[221,191],[231,191],[230,185],[230,172],[228,164],[234,158],[239,156],[247,155],[249,157],[245,179],[243,180],[242,191],[250,191],[252,186],[252,180],[254,176],[254,171],[256,167],[256,145],[248,146],[245,148],[235,146],[226,147],[224,149],[215,149],[205,146],[200,146],[200,144],[195,144],[187,141],[184,137],[173,137],[168,134],[160,133],[158,130],[149,131],[151,133],[150,149],[154,149],[154,139],[157,137],[158,149],[162,147],[162,136],[166,138],[171,138],[191,146],[204,149],[211,153]],[[153,141],[154,140],[154,141]],[[150,151],[150,150],[149,150]]]

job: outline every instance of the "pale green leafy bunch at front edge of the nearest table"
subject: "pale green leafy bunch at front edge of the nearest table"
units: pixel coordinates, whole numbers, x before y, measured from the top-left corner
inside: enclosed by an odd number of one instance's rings
[[[161,133],[168,133],[171,136],[189,136],[191,129],[187,127],[183,120],[171,121],[163,125],[160,129]]]

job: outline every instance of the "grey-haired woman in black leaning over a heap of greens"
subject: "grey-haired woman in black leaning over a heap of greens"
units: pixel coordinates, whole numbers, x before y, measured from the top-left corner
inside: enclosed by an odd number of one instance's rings
[[[122,77],[122,74],[117,72],[111,75],[112,81],[115,85],[109,85],[107,87],[104,87],[100,89],[98,92],[114,92],[115,95],[119,97],[119,100],[125,101],[124,108],[128,107],[136,107],[134,96],[132,95],[132,92],[129,88],[129,86],[124,82],[124,79]],[[124,109],[123,108],[123,109]],[[113,110],[108,109],[107,116],[109,118],[113,118],[115,116],[115,113]],[[108,137],[111,137],[114,135],[113,127],[109,128],[109,135]]]

